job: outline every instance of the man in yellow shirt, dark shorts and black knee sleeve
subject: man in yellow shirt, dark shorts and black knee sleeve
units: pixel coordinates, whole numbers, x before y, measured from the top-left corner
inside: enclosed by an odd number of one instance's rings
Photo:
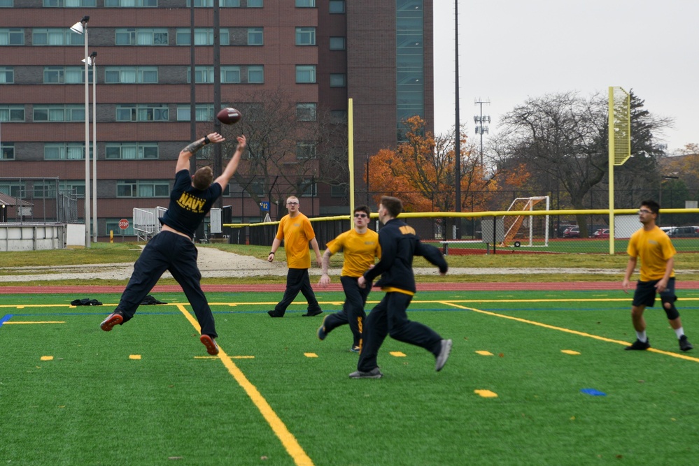
[[[693,348],[682,328],[682,320],[675,307],[675,247],[668,235],[656,225],[660,205],[656,201],[642,201],[638,210],[643,228],[631,235],[628,242],[628,265],[626,275],[621,283],[624,293],[628,293],[629,280],[636,268],[637,258],[641,258],[641,277],[633,293],[631,320],[636,330],[636,341],[626,349],[649,349],[650,340],[646,335],[646,321],[643,311],[646,306],[653,307],[656,293],[660,294],[663,310],[668,315],[670,326],[675,330],[679,340],[679,349],[689,351]]]

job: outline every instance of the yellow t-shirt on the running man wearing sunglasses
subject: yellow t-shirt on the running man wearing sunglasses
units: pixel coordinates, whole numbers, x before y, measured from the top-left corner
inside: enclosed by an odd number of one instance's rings
[[[370,265],[374,265],[375,257],[381,259],[379,233],[372,230],[357,233],[352,228],[328,242],[327,249],[332,254],[343,252],[345,260],[340,274],[343,277],[361,277]]]

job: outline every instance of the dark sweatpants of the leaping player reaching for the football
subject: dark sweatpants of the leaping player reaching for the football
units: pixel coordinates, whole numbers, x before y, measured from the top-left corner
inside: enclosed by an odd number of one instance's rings
[[[134,264],[134,273],[116,308],[123,314],[124,321],[132,319],[143,298],[148,296],[165,270],[182,286],[202,327],[202,335],[218,337],[211,307],[200,284],[202,272],[197,267],[197,247],[188,238],[171,231],[155,235]]]

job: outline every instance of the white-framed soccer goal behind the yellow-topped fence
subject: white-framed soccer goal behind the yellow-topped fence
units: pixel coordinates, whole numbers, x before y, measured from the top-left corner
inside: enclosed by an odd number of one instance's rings
[[[549,196],[516,198],[507,211],[523,212],[546,210],[550,207]],[[505,215],[505,237],[502,246],[545,247],[549,245],[549,215]]]

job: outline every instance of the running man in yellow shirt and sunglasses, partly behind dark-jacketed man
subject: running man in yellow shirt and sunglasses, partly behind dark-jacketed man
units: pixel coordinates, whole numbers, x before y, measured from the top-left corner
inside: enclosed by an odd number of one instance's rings
[[[318,282],[320,286],[330,284],[330,275],[327,275],[330,256],[341,251],[344,255],[344,263],[340,273],[340,283],[345,292],[345,303],[341,311],[325,316],[323,324],[318,328],[318,338],[325,340],[332,329],[349,324],[354,340],[350,348],[353,353],[358,353],[362,349],[362,327],[367,319],[364,306],[371,291],[371,286],[360,288],[357,280],[369,268],[374,267],[374,259],[377,257],[381,259],[379,233],[369,230],[370,213],[371,210],[367,205],[355,208],[354,228],[341,233],[327,243],[327,249],[323,254],[323,275]]]

